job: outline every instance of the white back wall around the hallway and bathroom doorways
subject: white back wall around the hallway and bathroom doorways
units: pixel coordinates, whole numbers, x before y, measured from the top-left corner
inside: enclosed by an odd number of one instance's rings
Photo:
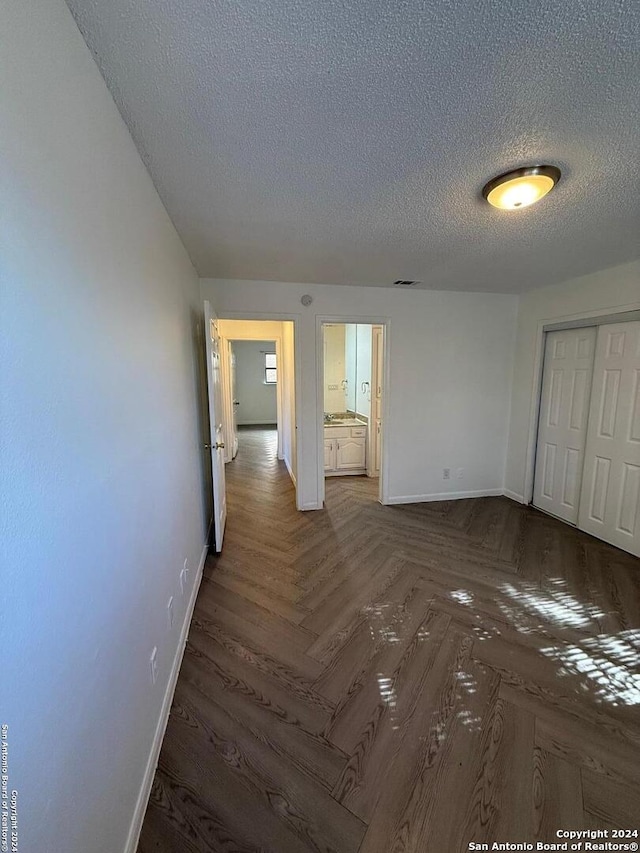
[[[219,316],[298,315],[300,505],[318,506],[316,316],[389,318],[392,500],[500,493],[503,487],[517,298],[499,294],[204,279]],[[303,308],[300,297],[313,296]],[[443,480],[442,469],[464,469]]]

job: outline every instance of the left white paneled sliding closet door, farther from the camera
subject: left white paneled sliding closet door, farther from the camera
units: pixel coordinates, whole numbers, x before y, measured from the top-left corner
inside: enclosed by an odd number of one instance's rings
[[[547,333],[533,503],[576,524],[596,329]]]

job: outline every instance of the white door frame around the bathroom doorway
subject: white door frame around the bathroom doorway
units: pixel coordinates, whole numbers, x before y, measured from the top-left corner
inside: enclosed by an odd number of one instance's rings
[[[370,314],[317,314],[316,315],[316,457],[318,461],[318,507],[324,507],[324,347],[322,327],[328,323],[362,323],[370,326],[382,326],[382,431],[380,436],[380,481],[378,500],[389,503],[389,378],[391,354],[391,319]],[[369,417],[371,429],[371,417]]]

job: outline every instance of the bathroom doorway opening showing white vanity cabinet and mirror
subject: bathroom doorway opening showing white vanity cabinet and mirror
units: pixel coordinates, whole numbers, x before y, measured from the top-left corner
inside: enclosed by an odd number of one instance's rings
[[[328,487],[348,484],[383,502],[384,328],[342,319],[319,325],[323,500]]]

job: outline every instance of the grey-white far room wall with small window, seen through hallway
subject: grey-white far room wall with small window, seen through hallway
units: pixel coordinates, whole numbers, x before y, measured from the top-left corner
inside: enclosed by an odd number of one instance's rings
[[[264,381],[264,354],[275,352],[275,341],[234,341],[238,424],[275,424],[276,386]]]

